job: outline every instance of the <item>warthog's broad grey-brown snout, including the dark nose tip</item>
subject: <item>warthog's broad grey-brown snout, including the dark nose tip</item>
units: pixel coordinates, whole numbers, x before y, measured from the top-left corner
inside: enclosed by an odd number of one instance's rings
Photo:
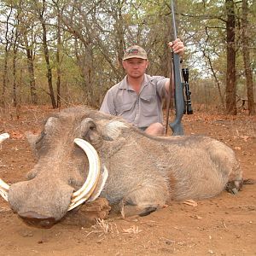
[[[50,228],[66,214],[72,194],[73,188],[63,181],[52,178],[45,182],[44,177],[35,177],[12,184],[8,199],[11,209],[26,224]]]

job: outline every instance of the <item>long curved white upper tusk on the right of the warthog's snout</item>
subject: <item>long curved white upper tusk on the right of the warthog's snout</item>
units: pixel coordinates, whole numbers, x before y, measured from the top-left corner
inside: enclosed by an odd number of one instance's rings
[[[101,170],[101,163],[96,149],[93,148],[90,143],[80,138],[75,138],[74,143],[82,148],[84,150],[84,153],[87,155],[87,158],[89,160],[89,172],[83,186],[79,190],[73,192],[68,211],[72,210],[75,207],[78,207],[90,197],[90,195],[96,188],[96,184],[98,182]]]

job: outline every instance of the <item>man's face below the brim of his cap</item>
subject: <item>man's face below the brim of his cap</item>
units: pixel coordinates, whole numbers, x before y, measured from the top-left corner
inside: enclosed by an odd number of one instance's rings
[[[138,58],[131,58],[123,61],[123,67],[128,76],[133,79],[142,77],[148,67],[148,61]]]

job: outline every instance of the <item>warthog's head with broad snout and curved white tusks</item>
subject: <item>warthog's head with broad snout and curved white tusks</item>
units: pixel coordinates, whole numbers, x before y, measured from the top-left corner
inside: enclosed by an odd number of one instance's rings
[[[100,194],[108,171],[84,140],[93,137],[92,113],[75,108],[49,117],[40,135],[27,134],[38,158],[28,180],[9,186],[0,179],[1,195],[28,224],[50,227],[67,211]],[[8,137],[3,134],[0,142]]]

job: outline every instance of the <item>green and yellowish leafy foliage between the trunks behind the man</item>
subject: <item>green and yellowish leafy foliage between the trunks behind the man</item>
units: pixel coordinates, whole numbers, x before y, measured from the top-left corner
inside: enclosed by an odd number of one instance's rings
[[[187,47],[183,56],[190,69],[192,83],[213,86],[224,92],[226,67],[226,10],[224,1],[184,0],[177,2],[177,32]],[[256,4],[248,1],[250,49],[252,67],[256,73],[255,24]],[[20,8],[22,6],[22,8]],[[40,11],[43,1],[3,0],[0,3],[0,93],[3,95],[3,76],[7,78],[7,101],[12,101],[13,46],[18,45],[22,68],[20,101],[30,101],[30,77],[27,71],[27,50],[32,52],[36,90],[40,102],[49,102],[47,69],[44,61],[43,33]],[[60,17],[58,25],[57,17]],[[166,0],[107,0],[46,1],[44,12],[49,47],[50,68],[56,90],[57,68],[61,70],[61,99],[70,102],[88,102],[98,107],[102,96],[124,76],[121,67],[123,50],[131,44],[140,44],[150,60],[148,73],[168,76],[170,50],[167,43],[172,37],[170,1]],[[238,92],[244,93],[245,77],[241,51],[241,3],[236,3],[236,63]],[[60,26],[61,47],[57,43],[57,27]],[[15,33],[16,32],[16,33]],[[59,47],[59,48],[58,48]],[[56,58],[57,48],[60,60]],[[8,73],[3,64],[8,58]],[[213,79],[213,75],[215,78]],[[19,79],[18,79],[19,80]],[[201,93],[205,91],[201,87]],[[197,93],[196,93],[197,94]],[[193,100],[200,101],[200,96]],[[217,102],[218,102],[217,100]]]

